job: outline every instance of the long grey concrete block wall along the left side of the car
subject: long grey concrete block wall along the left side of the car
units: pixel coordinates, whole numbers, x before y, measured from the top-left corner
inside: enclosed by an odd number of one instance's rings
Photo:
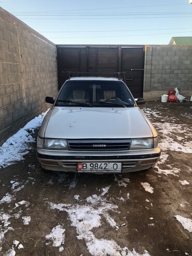
[[[57,92],[56,45],[0,8],[0,145]]]

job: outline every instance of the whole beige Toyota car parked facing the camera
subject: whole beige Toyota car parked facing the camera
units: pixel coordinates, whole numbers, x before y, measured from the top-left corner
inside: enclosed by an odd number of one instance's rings
[[[160,157],[158,134],[118,78],[73,77],[64,83],[39,129],[45,170],[122,173],[148,170]]]

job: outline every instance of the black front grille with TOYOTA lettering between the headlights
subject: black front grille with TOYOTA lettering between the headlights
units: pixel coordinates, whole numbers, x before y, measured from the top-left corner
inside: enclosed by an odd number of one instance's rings
[[[73,151],[121,151],[129,150],[131,140],[68,140]]]

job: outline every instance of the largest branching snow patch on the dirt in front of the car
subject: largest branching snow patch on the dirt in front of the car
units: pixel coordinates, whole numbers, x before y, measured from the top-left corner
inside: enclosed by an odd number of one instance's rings
[[[84,239],[88,251],[91,255],[114,255],[114,256],[140,256],[135,250],[131,252],[127,247],[121,248],[114,240],[98,239],[94,236],[92,230],[102,225],[102,217],[106,219],[112,228],[118,230],[115,220],[108,214],[108,211],[117,212],[117,205],[112,204],[103,197],[109,187],[102,189],[101,195],[92,195],[85,199],[85,204],[54,204],[49,203],[51,209],[66,211],[76,228],[78,239]],[[82,202],[81,202],[82,203]],[[144,251],[143,256],[148,256]]]

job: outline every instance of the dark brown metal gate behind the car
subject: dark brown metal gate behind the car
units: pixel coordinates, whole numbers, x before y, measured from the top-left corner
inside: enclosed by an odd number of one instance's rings
[[[86,76],[125,72],[133,96],[143,97],[144,46],[57,45],[57,52],[59,89],[67,79],[65,72],[74,72],[76,76],[85,76],[78,72],[86,72]]]

